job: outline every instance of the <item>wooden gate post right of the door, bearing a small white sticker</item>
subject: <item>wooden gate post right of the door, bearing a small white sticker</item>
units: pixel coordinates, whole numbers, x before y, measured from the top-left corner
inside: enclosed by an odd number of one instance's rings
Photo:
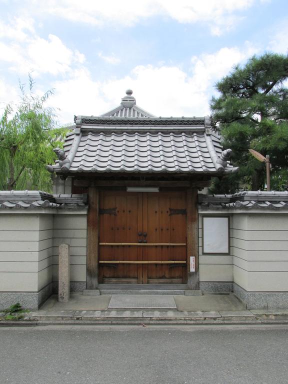
[[[199,289],[197,188],[188,188],[187,206],[187,289]],[[190,257],[195,257],[195,271],[190,272]]]

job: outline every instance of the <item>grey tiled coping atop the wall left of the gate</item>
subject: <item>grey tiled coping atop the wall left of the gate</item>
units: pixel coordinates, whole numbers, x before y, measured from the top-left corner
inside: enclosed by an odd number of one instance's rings
[[[39,190],[2,190],[0,208],[78,209],[87,203],[86,194],[50,194]]]

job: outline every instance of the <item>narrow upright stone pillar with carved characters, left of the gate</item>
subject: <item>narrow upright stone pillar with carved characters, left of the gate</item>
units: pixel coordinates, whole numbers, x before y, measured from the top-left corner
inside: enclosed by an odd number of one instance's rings
[[[70,297],[70,245],[59,245],[58,301],[67,302]]]

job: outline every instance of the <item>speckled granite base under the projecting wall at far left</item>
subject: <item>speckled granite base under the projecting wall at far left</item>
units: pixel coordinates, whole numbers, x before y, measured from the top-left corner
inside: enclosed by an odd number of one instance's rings
[[[26,309],[38,309],[52,294],[52,283],[38,292],[0,292],[0,310],[19,302]]]

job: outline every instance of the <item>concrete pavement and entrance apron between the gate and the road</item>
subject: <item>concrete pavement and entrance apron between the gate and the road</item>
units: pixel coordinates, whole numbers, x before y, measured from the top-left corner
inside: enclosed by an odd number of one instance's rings
[[[51,296],[19,321],[4,324],[261,324],[287,323],[288,309],[246,310],[233,293],[201,296],[71,293],[68,302]]]

